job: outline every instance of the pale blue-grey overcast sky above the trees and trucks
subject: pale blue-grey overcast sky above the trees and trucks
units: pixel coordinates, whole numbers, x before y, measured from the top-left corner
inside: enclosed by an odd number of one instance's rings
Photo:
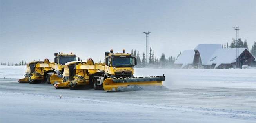
[[[0,62],[54,53],[103,60],[105,51],[177,56],[200,43],[256,41],[256,0],[0,0]]]

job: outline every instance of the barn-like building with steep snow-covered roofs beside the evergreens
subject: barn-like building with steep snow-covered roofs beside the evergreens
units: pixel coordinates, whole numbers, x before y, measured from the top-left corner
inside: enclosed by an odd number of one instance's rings
[[[228,69],[242,68],[243,65],[256,65],[255,57],[246,48],[222,49],[221,44],[198,44],[194,50],[185,50],[175,64],[180,68]],[[236,60],[238,66],[236,66]]]

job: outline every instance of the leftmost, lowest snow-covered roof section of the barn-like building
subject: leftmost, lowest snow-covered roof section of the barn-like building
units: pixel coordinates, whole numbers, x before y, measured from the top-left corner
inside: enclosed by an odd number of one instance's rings
[[[194,50],[185,50],[180,54],[180,56],[175,61],[175,64],[182,64],[182,67],[187,66],[188,64],[192,64],[194,60]]]

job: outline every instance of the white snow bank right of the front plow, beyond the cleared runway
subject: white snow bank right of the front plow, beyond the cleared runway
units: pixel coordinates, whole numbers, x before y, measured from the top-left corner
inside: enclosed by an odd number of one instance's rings
[[[134,76],[162,76],[167,88],[245,87],[256,88],[255,69],[140,69]]]

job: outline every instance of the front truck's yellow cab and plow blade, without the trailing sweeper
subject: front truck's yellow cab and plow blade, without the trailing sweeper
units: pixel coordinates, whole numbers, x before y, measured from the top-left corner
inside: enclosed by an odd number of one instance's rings
[[[162,86],[162,81],[165,76],[150,76],[150,77],[134,77],[134,66],[137,64],[137,59],[129,53],[113,53],[105,52],[105,63],[103,77],[94,77],[94,89],[103,89],[109,91],[122,91],[123,88],[130,85],[138,86]],[[100,65],[96,68],[101,69]]]

